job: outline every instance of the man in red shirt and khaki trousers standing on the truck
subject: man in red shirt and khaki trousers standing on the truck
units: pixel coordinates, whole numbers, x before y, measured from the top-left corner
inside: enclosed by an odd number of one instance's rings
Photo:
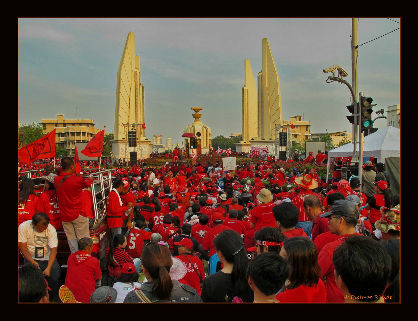
[[[61,160],[62,173],[54,178],[62,226],[67,236],[71,253],[78,251],[78,241],[90,236],[89,217],[82,191],[93,181],[90,178],[74,176],[76,165],[71,157]]]

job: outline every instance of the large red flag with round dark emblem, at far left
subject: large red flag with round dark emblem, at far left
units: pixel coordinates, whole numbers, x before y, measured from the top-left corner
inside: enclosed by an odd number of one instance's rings
[[[19,149],[19,161],[30,164],[37,159],[55,157],[55,129],[51,133]]]

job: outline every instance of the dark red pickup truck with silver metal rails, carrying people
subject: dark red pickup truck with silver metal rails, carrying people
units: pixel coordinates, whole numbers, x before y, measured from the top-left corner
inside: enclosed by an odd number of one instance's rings
[[[84,168],[83,171],[97,171],[93,168]],[[90,188],[93,199],[93,215],[94,222],[93,226],[90,227],[90,238],[93,241],[93,252],[92,256],[100,261],[100,267],[102,271],[107,269],[106,263],[106,248],[109,246],[110,230],[105,220],[106,214],[106,197],[112,190],[112,179],[111,171],[113,169],[106,169],[92,174],[93,184]],[[31,178],[31,174],[36,171],[20,172],[19,179]],[[21,176],[23,175],[23,176]],[[89,176],[82,176],[88,178]],[[39,186],[39,185],[37,185]],[[56,260],[58,264],[66,268],[67,259],[71,254],[68,245],[67,237],[64,230],[56,231],[58,236],[58,249],[56,254]],[[19,252],[19,264],[23,264],[23,256]]]

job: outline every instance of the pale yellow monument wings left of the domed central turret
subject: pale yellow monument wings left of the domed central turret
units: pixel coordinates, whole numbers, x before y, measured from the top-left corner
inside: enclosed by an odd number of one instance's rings
[[[125,129],[122,124],[145,123],[144,112],[144,87],[140,80],[140,57],[135,56],[135,35],[129,33],[117,70],[115,140],[125,139]],[[141,129],[141,131],[142,138],[145,138],[145,130]]]

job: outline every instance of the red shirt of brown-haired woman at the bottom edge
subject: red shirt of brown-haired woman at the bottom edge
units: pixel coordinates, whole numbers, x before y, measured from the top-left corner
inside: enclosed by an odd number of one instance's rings
[[[301,285],[292,290],[286,289],[276,295],[276,299],[282,303],[325,303],[326,289],[324,281],[319,279],[317,286]]]

